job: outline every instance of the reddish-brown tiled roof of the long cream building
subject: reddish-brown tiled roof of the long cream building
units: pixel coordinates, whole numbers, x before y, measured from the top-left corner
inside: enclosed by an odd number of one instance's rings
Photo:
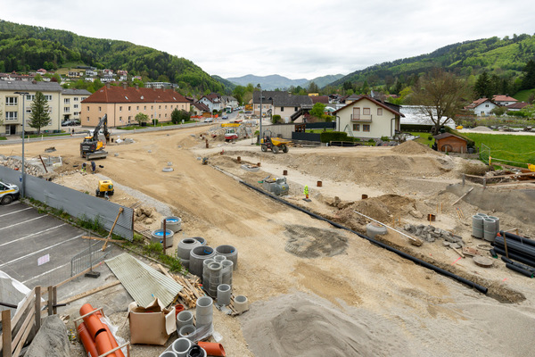
[[[107,87],[98,89],[82,103],[189,103],[172,89]]]

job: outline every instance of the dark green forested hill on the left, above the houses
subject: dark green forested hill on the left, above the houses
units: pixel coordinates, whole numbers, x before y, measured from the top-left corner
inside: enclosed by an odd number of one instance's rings
[[[126,70],[151,80],[167,78],[194,92],[225,92],[222,83],[185,58],[126,41],[0,20],[0,72],[54,70],[65,63]]]

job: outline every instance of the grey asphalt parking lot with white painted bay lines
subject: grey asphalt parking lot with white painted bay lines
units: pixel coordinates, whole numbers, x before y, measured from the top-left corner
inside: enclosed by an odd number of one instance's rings
[[[56,285],[70,278],[72,257],[95,244],[82,238],[86,235],[86,231],[25,203],[2,205],[0,270],[29,288]]]

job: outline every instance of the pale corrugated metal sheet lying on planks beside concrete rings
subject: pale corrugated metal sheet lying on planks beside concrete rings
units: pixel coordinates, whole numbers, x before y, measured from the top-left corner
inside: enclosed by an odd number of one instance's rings
[[[149,306],[155,297],[162,305],[168,306],[182,291],[182,286],[174,279],[128,253],[111,258],[106,264],[139,306]]]

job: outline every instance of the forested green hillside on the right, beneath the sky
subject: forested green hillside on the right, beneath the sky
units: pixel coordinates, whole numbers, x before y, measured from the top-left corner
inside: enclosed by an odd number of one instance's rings
[[[444,46],[431,54],[376,64],[362,71],[354,71],[331,85],[337,87],[345,83],[362,86],[366,83],[370,87],[386,84],[391,89],[393,86],[402,88],[412,76],[433,67],[454,71],[464,78],[487,71],[490,75],[496,74],[500,79],[514,82],[526,63],[533,59],[535,36],[490,37]]]

